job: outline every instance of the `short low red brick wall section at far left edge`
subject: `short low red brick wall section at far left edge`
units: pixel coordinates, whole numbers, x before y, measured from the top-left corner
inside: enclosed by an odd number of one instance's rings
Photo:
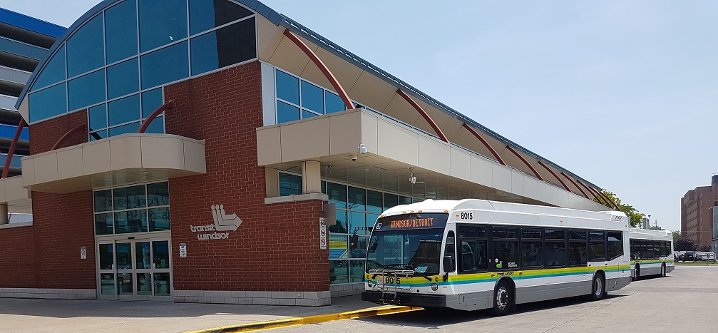
[[[0,229],[0,288],[34,288],[32,227]]]

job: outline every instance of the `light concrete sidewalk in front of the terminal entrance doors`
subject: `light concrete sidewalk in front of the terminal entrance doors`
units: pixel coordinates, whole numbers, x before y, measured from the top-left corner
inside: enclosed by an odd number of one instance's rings
[[[0,332],[187,332],[373,307],[360,296],[320,307],[0,299]]]

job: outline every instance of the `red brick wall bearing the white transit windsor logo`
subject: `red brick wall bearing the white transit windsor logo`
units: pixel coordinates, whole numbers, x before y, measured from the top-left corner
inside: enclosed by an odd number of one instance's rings
[[[207,174],[169,179],[176,290],[327,291],[328,250],[319,249],[321,202],[264,205],[257,166],[262,126],[259,62],[165,88],[173,100],[167,133],[205,140]],[[190,225],[211,225],[211,205],[243,222],[223,240],[197,240]],[[187,258],[179,258],[187,243]]]

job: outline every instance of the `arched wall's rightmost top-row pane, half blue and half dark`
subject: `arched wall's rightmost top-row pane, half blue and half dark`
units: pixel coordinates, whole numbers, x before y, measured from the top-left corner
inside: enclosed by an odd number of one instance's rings
[[[190,34],[219,27],[253,14],[227,0],[190,0]]]

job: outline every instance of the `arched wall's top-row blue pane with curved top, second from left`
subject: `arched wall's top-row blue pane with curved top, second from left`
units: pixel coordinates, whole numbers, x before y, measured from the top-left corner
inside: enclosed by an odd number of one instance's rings
[[[67,40],[67,77],[105,65],[103,42],[102,15],[98,15]]]

